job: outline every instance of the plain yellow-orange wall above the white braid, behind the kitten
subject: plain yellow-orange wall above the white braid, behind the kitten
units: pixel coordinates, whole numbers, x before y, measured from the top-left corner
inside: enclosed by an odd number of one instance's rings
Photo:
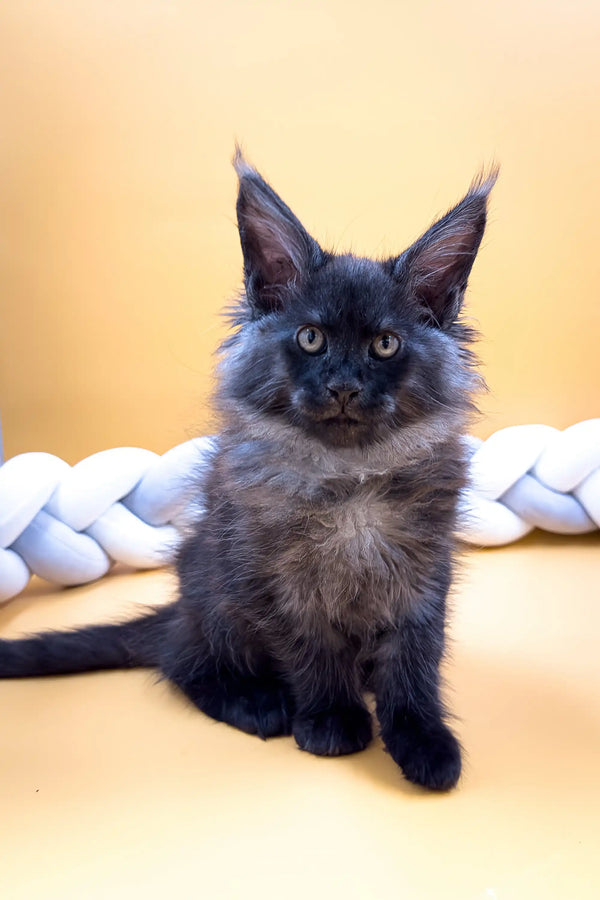
[[[4,0],[6,455],[211,427],[234,139],[325,245],[403,249],[498,161],[469,311],[479,433],[598,414],[600,9]]]

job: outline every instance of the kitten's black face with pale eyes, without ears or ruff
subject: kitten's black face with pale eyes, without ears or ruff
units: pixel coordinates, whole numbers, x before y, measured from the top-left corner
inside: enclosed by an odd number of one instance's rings
[[[364,444],[398,423],[410,320],[377,263],[338,257],[280,319],[287,418],[326,444]]]

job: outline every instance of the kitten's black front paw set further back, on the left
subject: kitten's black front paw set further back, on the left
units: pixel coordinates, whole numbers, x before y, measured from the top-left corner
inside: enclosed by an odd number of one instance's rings
[[[364,750],[373,736],[364,706],[337,707],[294,719],[292,733],[301,750],[317,756],[344,756]]]

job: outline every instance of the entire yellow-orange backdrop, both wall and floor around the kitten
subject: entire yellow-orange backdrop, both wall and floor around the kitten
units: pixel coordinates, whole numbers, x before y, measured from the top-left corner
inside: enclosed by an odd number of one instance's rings
[[[403,249],[498,161],[469,296],[479,433],[598,415],[599,47],[595,0],[2,0],[7,456],[211,427],[235,138],[318,240],[365,254]],[[340,760],[263,743],[147,671],[0,683],[0,894],[596,900],[598,538],[465,560],[450,795],[409,786],[378,740]],[[174,589],[36,579],[0,630]]]

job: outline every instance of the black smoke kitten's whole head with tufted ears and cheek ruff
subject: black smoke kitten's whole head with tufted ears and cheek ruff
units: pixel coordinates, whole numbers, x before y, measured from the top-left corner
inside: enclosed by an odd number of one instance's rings
[[[475,384],[459,321],[496,174],[400,256],[319,247],[238,153],[245,292],[224,345],[225,406],[366,446],[435,413],[462,418]]]

